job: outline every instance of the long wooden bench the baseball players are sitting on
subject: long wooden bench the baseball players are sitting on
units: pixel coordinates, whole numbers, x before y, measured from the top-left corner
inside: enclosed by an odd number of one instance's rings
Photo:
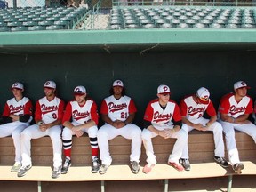
[[[129,166],[131,140],[125,140],[122,137],[110,140],[110,153],[113,163],[108,168],[106,174],[100,175],[99,173],[91,173],[89,138],[87,136],[79,139],[74,137],[72,166],[69,172],[65,175],[60,175],[58,179],[52,179],[52,141],[49,137],[32,140],[33,167],[22,178],[17,177],[16,172],[10,172],[14,160],[12,138],[2,138],[0,139],[0,180],[36,181],[38,191],[42,190],[41,182],[48,181],[100,181],[100,190],[105,191],[105,183],[110,180],[164,180],[164,191],[168,191],[168,181],[172,179],[227,177],[227,188],[228,191],[231,190],[234,172],[231,166],[224,169],[214,162],[212,132],[192,131],[189,133],[188,148],[191,163],[191,171],[189,172],[178,172],[167,164],[167,159],[172,151],[174,142],[175,140],[164,140],[160,137],[153,139],[157,164],[152,172],[148,174],[142,172],[142,167],[146,164],[146,154],[142,145],[140,156],[141,169],[138,174],[133,174]],[[256,145],[254,141],[243,132],[236,132],[236,145],[241,161],[245,165],[242,175],[255,175]]]

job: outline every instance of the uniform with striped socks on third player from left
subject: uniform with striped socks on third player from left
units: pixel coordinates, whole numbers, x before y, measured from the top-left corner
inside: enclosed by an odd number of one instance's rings
[[[99,122],[99,115],[97,112],[97,105],[93,100],[86,100],[83,106],[80,106],[76,100],[68,102],[62,123],[69,121],[72,117],[72,124],[79,125],[89,121],[94,121],[95,124]],[[83,132],[88,133],[90,144],[92,147],[92,156],[98,156],[98,142],[97,142],[97,125],[82,129]],[[72,147],[72,135],[75,135],[71,129],[65,127],[62,132],[63,148],[65,156],[70,157]]]

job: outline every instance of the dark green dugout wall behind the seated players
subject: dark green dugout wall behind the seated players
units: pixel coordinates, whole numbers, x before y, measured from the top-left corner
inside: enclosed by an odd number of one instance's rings
[[[116,78],[124,81],[127,95],[137,105],[135,123],[140,125],[149,100],[156,97],[159,84],[171,88],[173,100],[180,102],[200,86],[207,87],[217,107],[220,97],[233,91],[236,81],[244,80],[255,95],[255,52],[138,52],[0,54],[0,108],[12,97],[15,81],[25,84],[25,95],[35,104],[44,96],[44,82],[54,80],[65,101],[73,99],[76,85],[84,85],[98,108],[108,96]]]

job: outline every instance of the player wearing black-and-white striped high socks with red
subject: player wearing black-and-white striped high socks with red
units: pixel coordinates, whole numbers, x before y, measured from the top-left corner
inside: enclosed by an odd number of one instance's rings
[[[84,86],[76,86],[74,89],[75,100],[69,101],[66,106],[62,124],[65,126],[62,132],[62,143],[64,148],[65,163],[61,173],[68,172],[71,165],[72,135],[81,137],[84,132],[88,133],[92,148],[92,173],[100,169],[98,160],[98,112],[96,103],[86,98],[86,89]],[[70,119],[72,117],[72,122]]]

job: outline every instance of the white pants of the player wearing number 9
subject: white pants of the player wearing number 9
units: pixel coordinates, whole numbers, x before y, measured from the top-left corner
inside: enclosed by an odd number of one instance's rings
[[[50,136],[53,148],[53,166],[62,165],[62,141],[60,139],[61,125],[52,126],[50,129],[42,132],[37,124],[33,124],[21,132],[21,156],[22,165],[27,166],[31,162],[31,139],[42,138],[46,135]]]

